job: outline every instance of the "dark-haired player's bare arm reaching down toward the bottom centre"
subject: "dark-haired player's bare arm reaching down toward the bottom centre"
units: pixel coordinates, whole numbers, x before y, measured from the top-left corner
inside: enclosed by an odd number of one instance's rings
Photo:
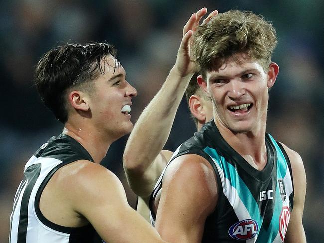
[[[127,203],[119,179],[103,166],[87,163],[69,187],[73,210],[85,217],[109,243],[165,243]]]

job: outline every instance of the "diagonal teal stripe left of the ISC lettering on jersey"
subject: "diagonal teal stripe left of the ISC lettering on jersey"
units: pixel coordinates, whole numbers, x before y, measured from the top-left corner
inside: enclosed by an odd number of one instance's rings
[[[254,197],[252,196],[252,194],[251,194],[250,190],[248,189],[248,187],[246,186],[246,184],[239,177],[235,167],[232,166],[230,163],[228,163],[223,156],[220,156],[215,149],[206,147],[204,149],[204,152],[206,152],[209,156],[214,158],[214,161],[216,161],[216,163],[222,169],[225,178],[227,178],[229,180],[231,186],[236,189],[236,192],[237,192],[240,200],[245,205],[251,218],[258,223],[258,226],[259,226],[258,234],[259,234],[261,225],[263,222],[263,218],[260,215],[258,204],[255,201]],[[226,197],[230,196],[230,195],[228,195],[227,192],[224,192],[224,193],[226,194]],[[235,197],[235,195],[233,195],[233,196]],[[238,210],[240,210],[240,209],[238,209]],[[240,220],[243,220],[243,219],[240,219]]]

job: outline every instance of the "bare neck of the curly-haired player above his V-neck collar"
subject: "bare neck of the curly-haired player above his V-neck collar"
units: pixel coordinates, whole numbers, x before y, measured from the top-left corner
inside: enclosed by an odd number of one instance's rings
[[[264,168],[267,163],[265,126],[260,125],[254,131],[234,133],[222,124],[215,124],[225,141],[250,165],[258,170]]]

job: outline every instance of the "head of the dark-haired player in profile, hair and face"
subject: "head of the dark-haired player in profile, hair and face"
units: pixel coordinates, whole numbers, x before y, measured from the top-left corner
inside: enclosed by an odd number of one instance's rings
[[[67,43],[39,61],[35,84],[45,105],[62,123],[87,124],[113,137],[130,132],[131,98],[117,50],[108,43]]]

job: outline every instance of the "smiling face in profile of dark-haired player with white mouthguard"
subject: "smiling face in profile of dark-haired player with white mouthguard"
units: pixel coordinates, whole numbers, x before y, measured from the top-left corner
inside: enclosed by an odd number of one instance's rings
[[[126,81],[124,68],[114,58],[106,57],[102,65],[104,74],[93,80],[95,90],[88,97],[91,119],[96,129],[117,139],[133,128],[129,112],[137,91]]]

